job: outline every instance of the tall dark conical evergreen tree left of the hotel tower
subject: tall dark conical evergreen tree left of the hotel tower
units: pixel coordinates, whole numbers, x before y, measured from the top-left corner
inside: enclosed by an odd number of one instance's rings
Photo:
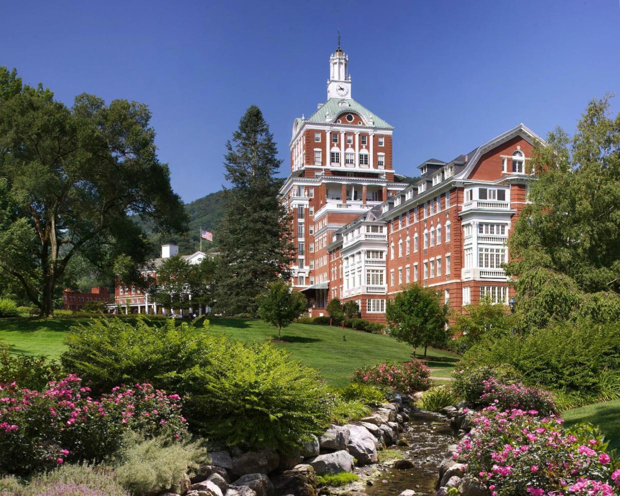
[[[226,143],[225,213],[216,236],[221,248],[216,310],[256,314],[257,296],[277,277],[290,277],[291,219],[275,177],[281,161],[260,108],[252,105]]]

